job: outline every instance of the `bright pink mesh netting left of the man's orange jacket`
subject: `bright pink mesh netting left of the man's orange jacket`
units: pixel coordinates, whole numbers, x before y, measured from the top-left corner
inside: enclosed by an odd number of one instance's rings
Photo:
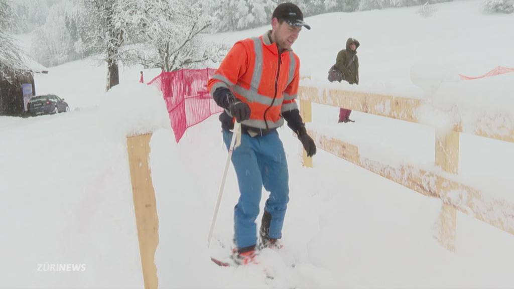
[[[212,68],[162,72],[148,83],[162,91],[177,142],[188,128],[223,111],[207,89],[207,81],[215,72]]]

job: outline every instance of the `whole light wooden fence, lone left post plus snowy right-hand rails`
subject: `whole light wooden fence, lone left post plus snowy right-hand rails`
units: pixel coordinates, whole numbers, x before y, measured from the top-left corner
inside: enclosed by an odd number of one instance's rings
[[[312,121],[312,102],[411,122],[418,122],[416,110],[424,104],[422,100],[418,99],[337,89],[324,90],[320,94],[319,88],[306,86],[300,87],[299,98],[301,114],[305,122]],[[394,167],[380,164],[378,161],[361,156],[359,148],[351,143],[321,135],[313,130],[308,132],[315,139],[319,148],[416,192],[440,198],[442,209],[437,220],[440,229],[436,238],[440,244],[451,251],[455,251],[456,210],[473,215],[476,219],[514,234],[514,205],[492,200],[483,196],[480,190],[459,184],[451,179],[451,174],[458,173],[459,134],[462,132],[460,123],[455,124],[454,130],[446,135],[436,136],[434,164],[441,167],[443,173],[430,172],[409,165]],[[514,142],[514,129],[510,128],[509,132],[508,135],[489,134],[476,128],[474,134]],[[127,137],[127,149],[144,288],[156,289],[158,279],[154,256],[159,242],[159,221],[151,170],[148,164],[150,138],[151,134]],[[305,152],[304,165],[313,166],[312,159],[307,157]],[[455,194],[455,192],[458,193]],[[494,213],[491,214],[491,212]]]

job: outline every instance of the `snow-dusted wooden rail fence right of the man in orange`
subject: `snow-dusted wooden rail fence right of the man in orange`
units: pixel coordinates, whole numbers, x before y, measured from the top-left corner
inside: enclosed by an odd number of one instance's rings
[[[300,111],[305,122],[312,121],[312,102],[343,107],[345,109],[418,122],[417,110],[425,103],[421,99],[401,98],[362,92],[342,91],[339,89],[320,89],[300,86],[298,97]],[[427,171],[414,166],[393,167],[367,159],[359,154],[359,148],[351,143],[322,135],[309,130],[317,146],[353,164],[372,171],[418,193],[440,198],[442,209],[436,221],[435,238],[450,251],[455,251],[456,210],[472,215],[494,227],[514,234],[514,204],[493,200],[484,196],[480,190],[452,180],[458,172],[459,134],[463,132],[462,123],[455,123],[453,131],[446,135],[436,135],[435,161],[443,172],[435,169]],[[505,128],[502,128],[505,130]],[[475,127],[473,134],[487,138],[514,142],[514,128],[507,128],[508,134],[490,133]],[[312,167],[312,159],[304,152],[304,165]]]

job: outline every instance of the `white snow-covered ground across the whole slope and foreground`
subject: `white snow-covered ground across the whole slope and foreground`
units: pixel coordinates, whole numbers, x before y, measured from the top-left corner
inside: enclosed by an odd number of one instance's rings
[[[416,7],[309,17],[313,29],[302,31],[293,48],[309,84],[437,99],[423,86],[459,85],[448,71],[478,76],[494,66],[514,67],[508,37],[514,15],[484,15],[479,4],[435,5],[428,19]],[[266,29],[209,37],[230,45]],[[327,84],[326,70],[348,37],[361,42],[361,84]],[[438,63],[447,67],[444,78]],[[304,168],[300,142],[287,127],[279,130],[290,175],[285,249],[264,250],[259,265],[214,265],[207,234],[226,160],[217,116],[175,143],[159,92],[137,83],[139,67],[122,69],[122,84],[105,94],[105,67],[91,64],[76,61],[36,75],[38,94],[65,98],[71,112],[0,117],[1,288],[143,287],[125,136],[146,131],[154,132],[161,288],[514,288],[514,236],[458,213],[457,252],[451,253],[432,237],[440,201],[321,150],[314,168]],[[158,74],[143,71],[145,81]],[[412,75],[421,75],[421,88]],[[500,87],[494,93],[511,91],[511,77],[492,80]],[[473,85],[487,90],[492,84]],[[484,105],[512,115],[511,99],[496,101]],[[467,112],[478,109],[470,105]],[[434,128],[358,112],[355,123],[337,124],[337,114],[335,107],[314,105],[309,127],[383,162],[433,163]],[[463,182],[514,203],[513,143],[461,134],[460,150]],[[215,239],[232,237],[237,194],[230,170]],[[59,264],[84,270],[44,270]],[[264,270],[275,278],[266,279]]]

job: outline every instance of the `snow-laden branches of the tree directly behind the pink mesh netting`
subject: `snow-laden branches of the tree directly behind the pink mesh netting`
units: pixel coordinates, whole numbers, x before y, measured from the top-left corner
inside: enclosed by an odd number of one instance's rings
[[[191,0],[126,0],[120,18],[126,21],[127,39],[135,43],[127,47],[131,60],[163,71],[206,67],[207,61],[218,61],[226,51],[201,38],[212,18],[201,13],[200,4]]]

